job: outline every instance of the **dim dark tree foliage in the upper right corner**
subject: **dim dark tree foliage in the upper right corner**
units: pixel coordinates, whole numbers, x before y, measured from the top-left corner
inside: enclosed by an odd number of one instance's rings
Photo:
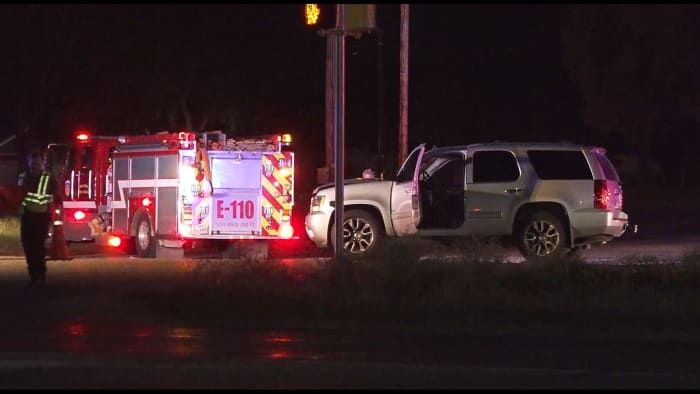
[[[690,118],[698,133],[698,11],[697,5],[571,7],[563,60],[593,139],[621,143],[644,158],[669,125]]]

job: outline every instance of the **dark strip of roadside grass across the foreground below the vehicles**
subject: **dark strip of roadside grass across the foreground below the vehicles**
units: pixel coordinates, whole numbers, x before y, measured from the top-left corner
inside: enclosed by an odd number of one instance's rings
[[[187,260],[172,262],[178,269],[166,275],[134,272],[133,264],[156,261],[121,262],[111,277],[58,279],[46,317],[554,335],[697,335],[700,329],[700,249],[678,262],[632,255],[618,265],[597,265],[576,258],[550,264],[480,258],[479,248],[489,247],[394,242],[373,261],[319,260],[302,268]],[[442,257],[421,258],[426,248]]]

